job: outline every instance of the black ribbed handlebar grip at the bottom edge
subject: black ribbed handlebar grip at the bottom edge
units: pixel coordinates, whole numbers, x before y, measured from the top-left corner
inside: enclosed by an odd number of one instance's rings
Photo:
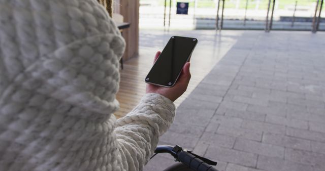
[[[198,170],[198,171],[218,171],[217,169],[213,168],[211,165],[207,164],[206,162],[202,161],[196,156],[192,154],[181,151],[177,154],[178,161],[184,163],[188,167]]]

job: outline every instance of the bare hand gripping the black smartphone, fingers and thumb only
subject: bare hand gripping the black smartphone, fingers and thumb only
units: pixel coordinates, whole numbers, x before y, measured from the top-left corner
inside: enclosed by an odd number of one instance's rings
[[[154,58],[154,62],[158,59],[159,55],[160,55],[160,52],[158,51]],[[191,74],[189,73],[189,66],[190,66],[190,63],[186,62],[174,87],[165,88],[165,87],[155,86],[153,84],[147,84],[146,93],[160,94],[174,102],[187,89],[188,82],[191,78]]]

